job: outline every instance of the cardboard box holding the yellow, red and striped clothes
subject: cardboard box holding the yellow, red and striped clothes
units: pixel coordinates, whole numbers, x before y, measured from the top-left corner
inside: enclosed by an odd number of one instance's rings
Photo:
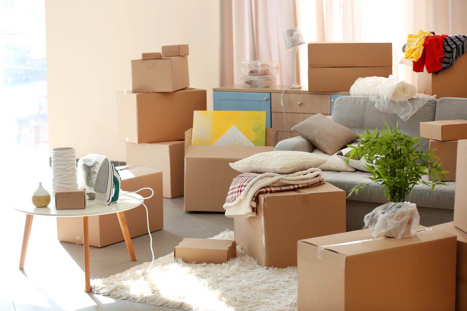
[[[418,93],[441,97],[467,97],[465,73],[467,71],[467,56],[461,55],[453,67],[439,73],[418,73]]]

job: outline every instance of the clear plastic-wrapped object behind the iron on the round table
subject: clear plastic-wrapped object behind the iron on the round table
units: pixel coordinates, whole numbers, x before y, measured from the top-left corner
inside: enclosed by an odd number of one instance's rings
[[[106,156],[102,154],[90,153],[78,160],[78,188],[86,189],[86,196],[89,200],[96,198],[94,183],[104,159],[106,159]]]

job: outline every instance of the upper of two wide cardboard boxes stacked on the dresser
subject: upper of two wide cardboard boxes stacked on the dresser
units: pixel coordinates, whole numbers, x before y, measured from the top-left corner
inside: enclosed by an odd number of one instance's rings
[[[392,43],[309,42],[308,67],[392,67]]]

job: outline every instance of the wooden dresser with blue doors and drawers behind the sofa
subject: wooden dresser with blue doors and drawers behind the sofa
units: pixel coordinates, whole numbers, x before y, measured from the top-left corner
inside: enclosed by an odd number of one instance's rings
[[[266,127],[279,131],[279,141],[297,136],[292,127],[317,113],[329,116],[333,113],[334,100],[348,96],[348,92],[310,92],[306,87],[287,89],[283,94],[284,107],[281,107],[281,93],[287,86],[275,88],[245,88],[241,85],[221,86],[213,89],[214,110],[266,111]],[[287,127],[284,125],[284,113]]]

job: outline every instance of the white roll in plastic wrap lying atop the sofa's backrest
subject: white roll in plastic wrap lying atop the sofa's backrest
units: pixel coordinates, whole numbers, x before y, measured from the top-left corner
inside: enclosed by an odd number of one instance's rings
[[[407,121],[420,107],[423,107],[436,95],[417,93],[417,88],[393,75],[389,78],[367,76],[358,78],[350,87],[351,96],[368,96],[375,103],[376,109],[396,113]]]

